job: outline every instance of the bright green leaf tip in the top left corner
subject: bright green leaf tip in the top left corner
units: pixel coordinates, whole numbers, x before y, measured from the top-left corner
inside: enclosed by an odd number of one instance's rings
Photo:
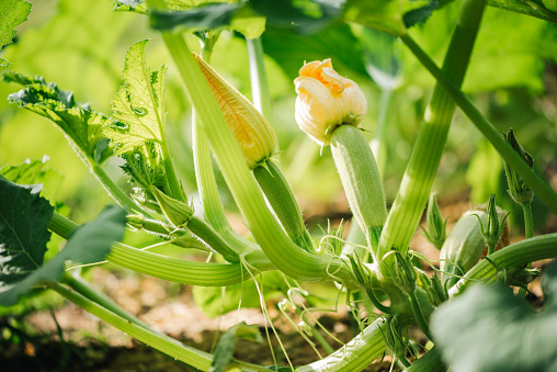
[[[0,49],[12,42],[15,27],[27,20],[31,4],[22,0],[3,0],[0,2]],[[10,66],[10,63],[0,58],[0,71]]]

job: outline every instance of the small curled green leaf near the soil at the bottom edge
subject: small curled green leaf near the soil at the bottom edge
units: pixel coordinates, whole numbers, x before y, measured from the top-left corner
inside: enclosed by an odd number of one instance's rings
[[[211,364],[209,372],[225,372],[232,360],[236,340],[242,338],[250,341],[263,342],[263,338],[255,325],[248,326],[245,322],[230,327],[218,340],[215,349],[215,358]]]

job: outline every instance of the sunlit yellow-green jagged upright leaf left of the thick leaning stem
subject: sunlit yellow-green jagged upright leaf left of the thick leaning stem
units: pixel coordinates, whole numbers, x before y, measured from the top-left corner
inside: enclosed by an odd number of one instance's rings
[[[149,41],[129,48],[124,86],[112,99],[114,122],[103,128],[115,155],[132,154],[146,142],[164,143],[164,78],[167,68],[149,72],[145,49]]]

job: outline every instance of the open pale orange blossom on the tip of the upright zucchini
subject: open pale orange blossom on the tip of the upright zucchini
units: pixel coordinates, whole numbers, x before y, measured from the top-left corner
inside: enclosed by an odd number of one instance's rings
[[[357,84],[332,69],[331,59],[314,60],[299,69],[296,86],[296,122],[319,145],[329,145],[339,125],[357,126],[367,102]]]

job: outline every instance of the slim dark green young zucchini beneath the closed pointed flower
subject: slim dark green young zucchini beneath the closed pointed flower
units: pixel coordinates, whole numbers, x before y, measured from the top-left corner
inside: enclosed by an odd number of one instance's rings
[[[298,247],[308,252],[315,252],[314,241],[304,224],[296,196],[294,196],[294,192],[281,168],[274,160],[269,159],[264,165],[253,169],[253,176],[255,176],[255,180],[263,190],[286,234]]]

